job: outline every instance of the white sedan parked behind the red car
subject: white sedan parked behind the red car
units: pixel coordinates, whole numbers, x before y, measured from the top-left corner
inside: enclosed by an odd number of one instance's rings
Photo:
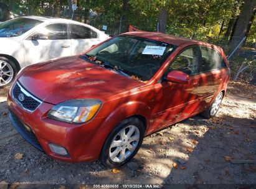
[[[0,88],[27,65],[77,55],[108,38],[90,25],[67,19],[25,16],[2,22]]]

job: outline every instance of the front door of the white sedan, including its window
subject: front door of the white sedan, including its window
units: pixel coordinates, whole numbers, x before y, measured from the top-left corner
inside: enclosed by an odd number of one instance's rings
[[[71,41],[65,23],[46,25],[24,39],[23,44],[27,65],[71,55]]]

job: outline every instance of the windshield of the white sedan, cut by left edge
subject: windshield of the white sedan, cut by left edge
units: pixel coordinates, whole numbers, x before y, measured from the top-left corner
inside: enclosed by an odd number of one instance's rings
[[[0,37],[17,37],[42,23],[34,19],[20,17],[0,24]]]

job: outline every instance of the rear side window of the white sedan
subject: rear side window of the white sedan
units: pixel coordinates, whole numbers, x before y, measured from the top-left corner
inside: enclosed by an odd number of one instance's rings
[[[91,39],[97,38],[97,33],[82,25],[70,24],[71,39]]]

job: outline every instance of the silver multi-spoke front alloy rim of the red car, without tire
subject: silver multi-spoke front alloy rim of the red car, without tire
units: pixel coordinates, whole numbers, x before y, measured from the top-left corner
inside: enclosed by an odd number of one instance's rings
[[[123,162],[136,149],[140,141],[140,131],[136,126],[121,129],[111,142],[109,156],[113,162]]]

